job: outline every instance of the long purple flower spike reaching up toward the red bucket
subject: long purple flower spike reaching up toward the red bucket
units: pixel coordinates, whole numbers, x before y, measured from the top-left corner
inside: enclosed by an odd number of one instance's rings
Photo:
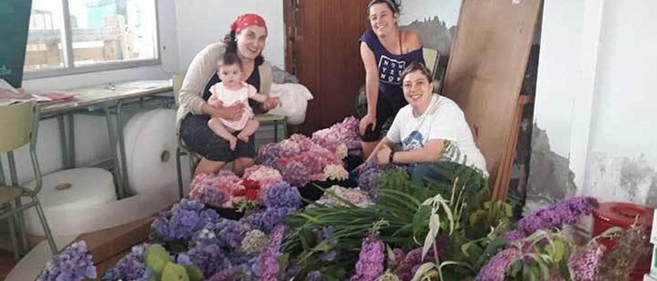
[[[574,225],[584,215],[590,215],[598,202],[592,197],[574,197],[558,202],[518,221],[518,230],[507,232],[509,242],[530,236],[540,229],[560,228]]]

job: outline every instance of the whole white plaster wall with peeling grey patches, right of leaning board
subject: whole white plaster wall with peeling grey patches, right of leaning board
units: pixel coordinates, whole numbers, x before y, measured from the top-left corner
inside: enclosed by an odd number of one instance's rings
[[[650,11],[657,3],[544,3],[534,121],[547,135],[549,154],[565,160],[575,194],[655,204],[657,133],[650,125],[657,119],[651,83],[657,39],[650,34],[657,22]],[[532,163],[545,155],[533,151]],[[530,167],[535,186],[528,198],[562,194],[541,189],[564,188],[569,179],[545,183],[541,173]]]

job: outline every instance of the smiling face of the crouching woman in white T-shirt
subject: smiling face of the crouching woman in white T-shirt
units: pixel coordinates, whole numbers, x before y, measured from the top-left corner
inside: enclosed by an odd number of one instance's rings
[[[404,76],[404,98],[414,109],[424,111],[433,97],[434,83],[430,83],[420,70],[415,70]]]

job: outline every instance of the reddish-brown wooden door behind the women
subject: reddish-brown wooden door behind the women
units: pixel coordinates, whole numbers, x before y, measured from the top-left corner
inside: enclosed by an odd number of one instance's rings
[[[309,134],[355,115],[365,84],[358,39],[369,28],[369,0],[283,0],[286,71],[299,77],[314,99],[306,121],[292,132]]]

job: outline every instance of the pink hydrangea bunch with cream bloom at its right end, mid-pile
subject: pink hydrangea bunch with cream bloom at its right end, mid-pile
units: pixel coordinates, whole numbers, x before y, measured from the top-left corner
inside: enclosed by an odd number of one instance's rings
[[[256,162],[277,169],[283,180],[293,186],[305,186],[311,181],[344,181],[348,172],[342,157],[316,144],[303,135],[292,135],[281,142],[265,144]]]

